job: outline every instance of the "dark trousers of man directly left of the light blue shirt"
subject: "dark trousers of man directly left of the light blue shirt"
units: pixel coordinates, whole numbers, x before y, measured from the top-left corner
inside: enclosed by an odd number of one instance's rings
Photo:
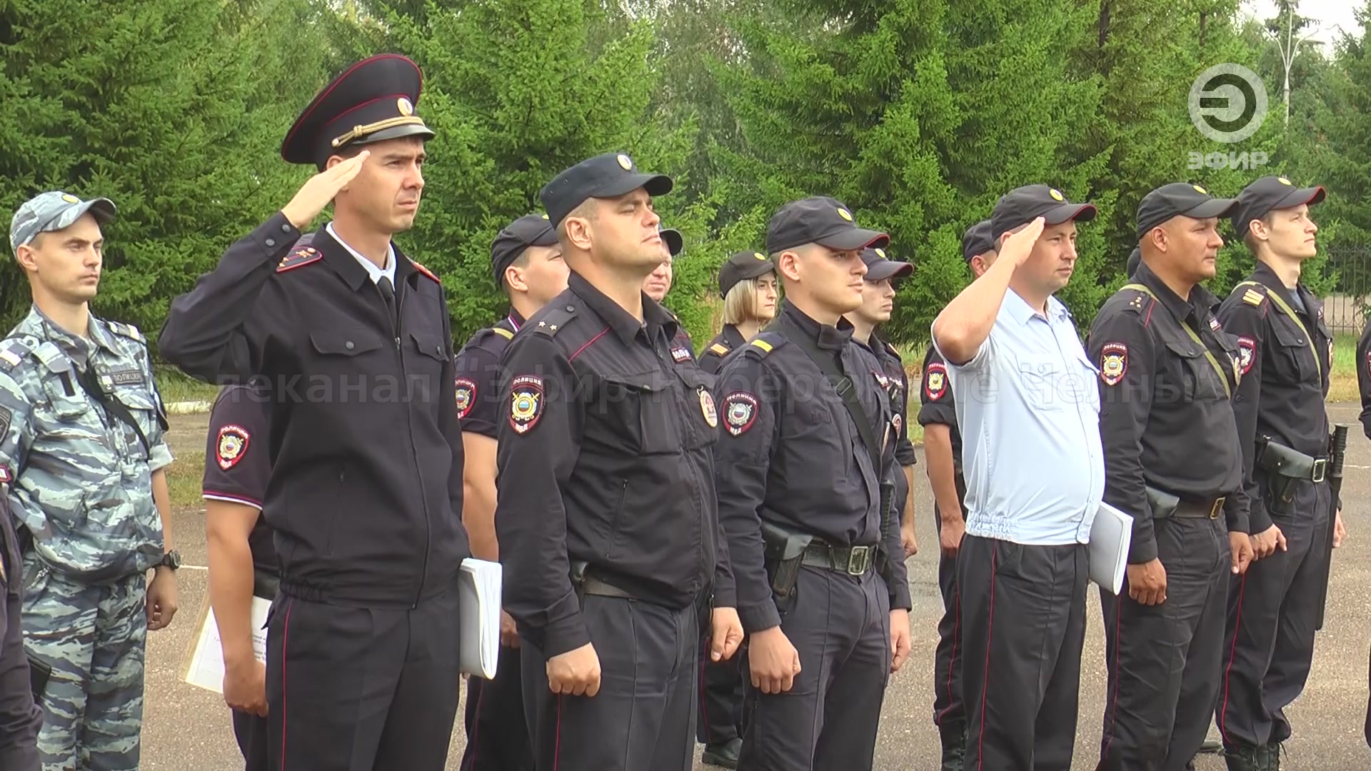
[[[780,628],[799,652],[791,690],[764,694],[743,663],[739,771],[871,768],[890,680],[890,591],[868,571],[802,565]]]

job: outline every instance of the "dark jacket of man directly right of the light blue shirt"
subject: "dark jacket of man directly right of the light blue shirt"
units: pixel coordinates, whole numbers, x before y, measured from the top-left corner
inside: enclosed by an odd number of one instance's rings
[[[1248,517],[1233,409],[1235,340],[1204,287],[1182,299],[1146,263],[1134,278],[1095,316],[1090,355],[1101,370],[1104,499],[1134,517],[1128,561],[1141,564],[1157,557],[1146,486],[1193,503],[1227,497],[1233,532],[1248,532]]]

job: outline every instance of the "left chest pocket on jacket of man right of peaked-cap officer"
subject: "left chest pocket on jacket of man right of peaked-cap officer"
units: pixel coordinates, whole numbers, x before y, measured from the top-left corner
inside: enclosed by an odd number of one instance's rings
[[[651,372],[607,375],[599,391],[587,410],[603,414],[609,442],[621,442],[628,451],[644,455],[676,453],[683,447],[686,438],[677,427],[679,396],[665,377]]]

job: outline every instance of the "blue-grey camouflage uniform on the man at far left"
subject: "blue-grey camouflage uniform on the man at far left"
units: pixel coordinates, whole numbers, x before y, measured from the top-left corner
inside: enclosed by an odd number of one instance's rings
[[[52,667],[40,700],[44,771],[138,767],[147,571],[163,554],[152,472],[171,453],[147,342],[95,317],[88,337],[34,307],[0,342],[0,465],[26,542],[25,648]],[[88,365],[143,436],[86,392]]]

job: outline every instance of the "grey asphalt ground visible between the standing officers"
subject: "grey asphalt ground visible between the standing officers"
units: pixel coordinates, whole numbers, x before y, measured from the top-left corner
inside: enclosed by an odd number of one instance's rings
[[[1348,539],[1335,553],[1327,621],[1319,632],[1309,685],[1287,709],[1294,737],[1286,744],[1287,756],[1282,766],[1286,771],[1371,768],[1371,749],[1361,735],[1367,711],[1367,646],[1371,643],[1371,442],[1361,434],[1357,413],[1357,405],[1352,403],[1328,407],[1334,423],[1352,424],[1342,488]],[[173,418],[171,443],[177,455],[203,450],[206,420],[203,414]],[[909,560],[914,602],[910,615],[913,653],[886,693],[876,749],[879,771],[936,770],[939,764],[938,734],[932,724],[932,659],[942,601],[936,584],[932,494],[923,469],[916,480],[921,550]],[[173,527],[188,567],[180,573],[181,610],[175,621],[170,628],[148,635],[144,768],[237,771],[243,763],[233,741],[228,708],[218,694],[181,680],[197,612],[206,601],[203,510],[178,512]],[[1080,664],[1080,722],[1072,767],[1079,770],[1094,768],[1105,709],[1104,628],[1094,587],[1089,595],[1090,626]],[[1216,737],[1212,727],[1211,737]],[[450,770],[458,767],[463,741],[458,712]],[[1196,768],[1222,771],[1224,766],[1216,756],[1201,756]]]

